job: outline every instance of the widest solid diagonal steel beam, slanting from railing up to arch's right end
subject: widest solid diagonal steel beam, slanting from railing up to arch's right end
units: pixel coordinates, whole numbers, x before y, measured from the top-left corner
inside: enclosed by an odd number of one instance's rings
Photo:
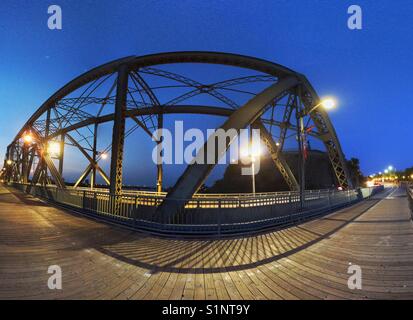
[[[298,85],[298,79],[295,77],[286,77],[280,79],[278,83],[275,83],[249,100],[245,105],[236,110],[227,121],[221,126],[220,129],[228,131],[229,129],[235,129],[239,132],[240,129],[245,128],[247,125],[258,119],[265,111],[268,104],[276,99],[281,94],[290,90]],[[207,154],[208,145],[215,144],[216,136],[211,135],[204,146],[198,151],[198,154]],[[215,150],[216,159],[220,159],[226,152],[232,141],[225,141],[225,150],[220,150],[222,154],[218,154]],[[185,172],[178,179],[174,187],[167,194],[166,198],[160,205],[158,212],[163,216],[174,215],[177,211],[182,209],[185,203],[192,197],[192,195],[201,187],[209,173],[215,167],[213,164],[199,164],[193,163],[188,165]]]

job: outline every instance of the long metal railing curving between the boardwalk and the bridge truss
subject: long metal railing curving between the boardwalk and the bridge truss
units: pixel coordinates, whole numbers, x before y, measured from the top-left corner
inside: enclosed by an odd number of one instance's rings
[[[26,191],[28,186],[10,185],[21,191]],[[140,230],[164,234],[229,234],[300,222],[370,197],[382,187],[312,190],[306,191],[302,199],[299,192],[197,194],[186,199],[184,208],[169,214],[157,211],[165,195],[153,192],[127,192],[115,196],[106,190],[62,190],[40,185],[31,186],[30,190],[34,196]],[[120,204],[117,212],[115,202]]]

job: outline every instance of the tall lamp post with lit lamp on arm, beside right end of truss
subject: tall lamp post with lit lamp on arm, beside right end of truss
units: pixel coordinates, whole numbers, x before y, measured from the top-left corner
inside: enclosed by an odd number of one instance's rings
[[[336,102],[331,98],[326,98],[321,100],[318,104],[312,107],[309,111],[300,110],[297,112],[297,122],[299,128],[299,135],[298,135],[298,145],[299,145],[299,153],[300,153],[300,202],[301,208],[304,205],[304,192],[305,192],[305,157],[304,157],[304,143],[305,143],[305,127],[304,127],[304,117],[311,114],[313,111],[318,109],[319,107],[323,107],[326,110],[333,109],[336,106]]]

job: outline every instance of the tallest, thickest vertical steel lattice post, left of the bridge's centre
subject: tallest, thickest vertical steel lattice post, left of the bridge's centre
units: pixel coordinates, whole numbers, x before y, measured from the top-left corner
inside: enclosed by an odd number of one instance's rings
[[[127,65],[121,65],[118,70],[115,118],[112,131],[112,156],[110,162],[110,194],[114,203],[113,214],[120,212],[122,195],[123,146],[125,141],[125,114],[128,92],[129,70]]]

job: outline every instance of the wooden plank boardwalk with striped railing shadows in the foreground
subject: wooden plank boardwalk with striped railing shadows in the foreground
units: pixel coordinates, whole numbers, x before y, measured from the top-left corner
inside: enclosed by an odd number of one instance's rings
[[[347,286],[349,264],[362,290]],[[62,290],[47,287],[59,265]],[[167,240],[0,186],[1,299],[412,299],[413,225],[394,189],[245,238]]]

